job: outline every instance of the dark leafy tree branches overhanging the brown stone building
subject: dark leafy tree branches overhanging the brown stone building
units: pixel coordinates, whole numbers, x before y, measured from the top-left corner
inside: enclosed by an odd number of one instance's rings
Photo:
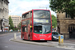
[[[51,10],[66,12],[72,19],[75,17],[75,0],[50,0]]]

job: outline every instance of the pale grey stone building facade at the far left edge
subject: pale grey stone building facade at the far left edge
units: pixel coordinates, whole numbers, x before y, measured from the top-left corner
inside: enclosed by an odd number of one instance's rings
[[[9,29],[9,20],[8,20],[8,0],[0,0],[0,29],[3,31]]]

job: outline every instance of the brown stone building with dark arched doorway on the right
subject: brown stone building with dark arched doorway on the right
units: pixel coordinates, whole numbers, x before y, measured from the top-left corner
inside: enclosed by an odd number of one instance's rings
[[[75,38],[75,18],[71,19],[66,13],[57,13],[57,30],[65,39]]]

